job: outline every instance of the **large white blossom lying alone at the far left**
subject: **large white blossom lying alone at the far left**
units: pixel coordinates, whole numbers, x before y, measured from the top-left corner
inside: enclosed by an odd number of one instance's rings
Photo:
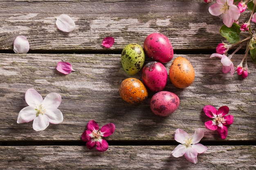
[[[34,89],[29,88],[25,93],[25,101],[29,106],[20,110],[17,123],[33,121],[33,129],[36,131],[45,130],[49,123],[60,124],[63,121],[61,110],[61,95],[50,93],[45,99]]]

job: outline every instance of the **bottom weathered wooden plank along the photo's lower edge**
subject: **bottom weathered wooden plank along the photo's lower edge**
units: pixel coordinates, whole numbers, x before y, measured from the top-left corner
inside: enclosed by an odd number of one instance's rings
[[[90,170],[254,170],[256,146],[207,146],[193,164],[175,158],[175,146],[110,146],[104,153],[85,146],[0,146],[0,168]],[[3,156],[5,155],[5,156]]]

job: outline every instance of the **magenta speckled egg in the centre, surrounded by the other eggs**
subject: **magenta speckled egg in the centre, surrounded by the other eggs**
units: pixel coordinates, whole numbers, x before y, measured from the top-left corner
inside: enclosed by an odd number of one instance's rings
[[[157,61],[148,62],[142,69],[142,80],[150,91],[164,90],[168,74],[165,66]]]

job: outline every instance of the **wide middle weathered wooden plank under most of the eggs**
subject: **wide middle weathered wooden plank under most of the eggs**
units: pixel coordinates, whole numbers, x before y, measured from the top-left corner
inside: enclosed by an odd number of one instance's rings
[[[208,104],[216,108],[227,105],[234,115],[227,140],[255,140],[255,64],[248,61],[251,74],[243,79],[236,73],[232,77],[223,74],[220,60],[209,59],[209,55],[179,56],[194,66],[195,81],[186,89],[178,89],[168,80],[164,90],[176,93],[180,106],[171,116],[158,117],[149,107],[153,93],[137,105],[119,96],[121,82],[127,77],[141,79],[141,72],[127,75],[118,54],[0,54],[0,141],[80,140],[91,119],[100,126],[110,122],[116,125],[109,140],[173,140],[177,128],[189,133],[205,128],[204,122],[210,119],[202,108]],[[242,57],[235,55],[233,62],[240,62]],[[58,73],[56,64],[61,60],[70,62],[75,72]],[[170,65],[165,65],[167,70]],[[18,112],[27,106],[24,97],[28,88],[36,89],[43,97],[51,92],[62,96],[62,124],[36,132],[32,123],[16,123]],[[205,129],[204,140],[219,140],[216,134]]]

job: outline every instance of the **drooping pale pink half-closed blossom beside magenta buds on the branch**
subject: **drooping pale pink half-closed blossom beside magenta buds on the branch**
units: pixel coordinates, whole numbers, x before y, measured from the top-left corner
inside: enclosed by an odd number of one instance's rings
[[[234,74],[234,64],[231,62],[231,55],[227,57],[225,54],[219,54],[219,53],[213,53],[210,58],[212,57],[218,57],[220,58],[220,62],[222,63],[222,72],[227,74],[231,72],[231,76]]]

